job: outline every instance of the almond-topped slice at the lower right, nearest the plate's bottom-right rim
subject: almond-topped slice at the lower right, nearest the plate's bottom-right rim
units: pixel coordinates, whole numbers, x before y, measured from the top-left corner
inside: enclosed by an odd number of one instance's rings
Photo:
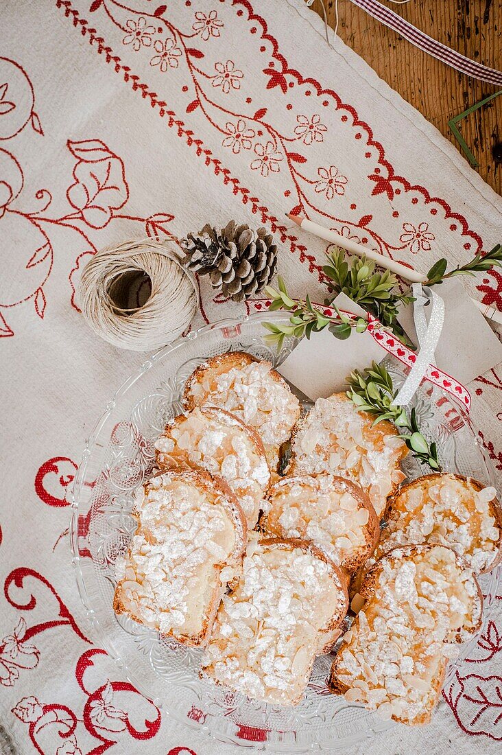
[[[328,686],[383,718],[427,723],[452,651],[481,625],[476,577],[454,550],[391,550],[365,575],[365,606],[331,667]]]

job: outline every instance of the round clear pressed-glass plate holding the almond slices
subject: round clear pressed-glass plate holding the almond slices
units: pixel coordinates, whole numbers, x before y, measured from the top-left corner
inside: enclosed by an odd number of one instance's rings
[[[269,752],[310,753],[350,747],[382,731],[385,722],[343,697],[331,695],[325,680],[332,656],[316,660],[303,701],[297,707],[265,704],[199,678],[201,651],[143,627],[112,609],[115,560],[128,548],[136,522],[131,516],[135,488],[154,464],[153,443],[168,420],[182,410],[186,378],[210,356],[242,350],[279,365],[297,341],[276,353],[263,342],[263,322],[286,322],[285,313],[257,313],[226,319],[189,333],[146,359],[117,390],[88,439],[72,492],[72,562],[82,602],[97,642],[115,659],[128,680],[164,713],[220,741]],[[349,342],[350,344],[350,342]],[[346,342],[333,339],[334,349]],[[386,366],[398,386],[402,365]],[[412,404],[423,434],[435,440],[446,471],[494,484],[493,470],[464,409],[439,388],[424,383]],[[403,469],[414,479],[427,468],[407,458]],[[496,594],[500,568],[480,578],[485,616]],[[445,685],[473,646],[460,650],[449,666]]]

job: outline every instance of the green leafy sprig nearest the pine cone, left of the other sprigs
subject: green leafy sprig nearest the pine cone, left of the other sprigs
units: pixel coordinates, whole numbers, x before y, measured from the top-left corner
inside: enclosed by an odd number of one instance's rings
[[[263,323],[263,327],[269,331],[269,334],[263,340],[269,346],[276,346],[278,350],[281,350],[286,336],[295,338],[306,336],[310,338],[313,332],[319,333],[324,328],[328,328],[334,336],[342,340],[348,338],[353,329],[362,333],[368,328],[368,320],[363,317],[351,319],[340,312],[337,307],[333,307],[336,312],[336,315],[333,316],[319,312],[316,307],[313,307],[308,294],[305,300],[292,299],[281,276],[277,276],[277,284],[279,291],[272,286],[265,288],[266,293],[272,299],[269,310],[286,310],[291,313],[291,316],[288,323]]]

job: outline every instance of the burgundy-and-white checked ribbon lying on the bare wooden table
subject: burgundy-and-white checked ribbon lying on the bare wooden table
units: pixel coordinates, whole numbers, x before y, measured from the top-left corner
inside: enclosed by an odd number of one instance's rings
[[[488,68],[488,66],[483,66],[482,63],[476,63],[470,57],[465,57],[465,55],[461,55],[456,50],[442,45],[441,42],[421,32],[412,23],[409,23],[409,21],[406,21],[397,13],[391,11],[390,8],[386,8],[385,5],[381,5],[377,0],[352,0],[352,2],[370,14],[370,16],[373,16],[386,26],[389,26],[390,29],[394,29],[394,31],[405,37],[405,39],[408,39],[408,42],[411,42],[412,45],[433,55],[433,57],[441,60],[442,63],[446,63],[447,66],[451,66],[451,68],[460,71],[460,73],[465,73],[467,76],[472,76],[473,79],[502,86],[502,71]]]

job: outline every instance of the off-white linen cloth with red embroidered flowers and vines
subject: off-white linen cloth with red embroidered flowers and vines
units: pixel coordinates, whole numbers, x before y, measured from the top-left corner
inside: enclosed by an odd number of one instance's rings
[[[301,0],[4,0],[0,29],[0,723],[18,753],[236,753],[125,682],[75,589],[69,489],[144,359],[85,324],[82,267],[113,242],[235,218],[273,231],[291,290],[316,297],[325,246],[285,211],[426,271],[499,241],[502,202],[364,61],[328,48]],[[500,273],[464,283],[502,310]],[[194,324],[245,311],[203,284]],[[500,483],[500,365],[470,392]],[[376,753],[502,738],[502,588],[496,604],[433,723],[396,726]]]

